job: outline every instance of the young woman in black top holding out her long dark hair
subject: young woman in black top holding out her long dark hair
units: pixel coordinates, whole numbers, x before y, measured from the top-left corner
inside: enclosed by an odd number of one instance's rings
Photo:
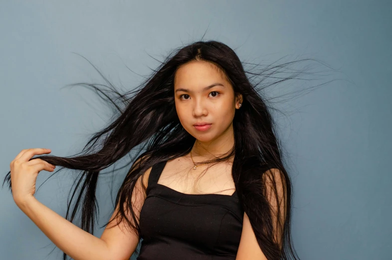
[[[132,97],[111,84],[109,91],[89,85],[117,108],[113,122],[82,155],[33,158],[50,149],[23,149],[4,181],[64,259],[129,259],[141,238],[138,260],[297,259],[290,235],[291,181],[270,108],[253,76],[247,77],[227,45],[197,41],[169,55],[141,88],[127,93]],[[143,152],[98,238],[92,233],[99,172],[134,148]],[[33,196],[38,172],[56,165],[81,170],[70,217],[71,201],[63,218]],[[80,205],[81,228],[72,223]]]

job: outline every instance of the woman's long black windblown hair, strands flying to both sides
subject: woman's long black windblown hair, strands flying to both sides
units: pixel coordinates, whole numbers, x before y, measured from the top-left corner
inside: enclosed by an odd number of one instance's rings
[[[261,90],[298,78],[304,71],[290,66],[311,59],[272,63],[260,71],[245,71],[243,62],[229,46],[215,40],[199,40],[174,49],[150,77],[124,94],[119,93],[107,79],[107,85],[71,84],[95,90],[115,108],[115,116],[104,129],[93,134],[80,153],[69,157],[42,155],[34,158],[80,170],[70,193],[65,217],[72,222],[78,210],[81,210],[81,228],[93,233],[99,173],[129,155],[131,150],[139,149],[117,192],[115,204],[120,205],[117,216],[127,221],[140,237],[139,219],[130,199],[136,182],[152,165],[189,153],[196,140],[182,127],[174,105],[176,70],[194,60],[214,64],[231,83],[234,92],[243,95],[242,107],[236,109],[233,119],[234,146],[226,156],[211,162],[234,156],[232,176],[235,188],[266,257],[269,260],[298,259],[290,232],[292,183],[284,163],[284,149],[278,138],[277,124],[272,117],[272,110],[276,108],[271,106],[269,98]],[[271,168],[278,170],[268,170]],[[3,185],[5,182],[11,186],[10,172],[6,174]],[[271,206],[271,199],[279,201],[280,206]],[[72,202],[74,205],[71,209]],[[283,205],[285,210],[282,210]],[[132,219],[126,216],[128,211]],[[277,239],[278,236],[282,240]],[[67,255],[63,253],[63,259],[66,258]]]

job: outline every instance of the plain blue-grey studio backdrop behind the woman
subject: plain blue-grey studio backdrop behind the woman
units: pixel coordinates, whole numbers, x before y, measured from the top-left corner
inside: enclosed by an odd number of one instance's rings
[[[305,260],[391,259],[391,13],[387,0],[3,0],[1,180],[21,149],[45,147],[70,156],[109,119],[110,109],[93,91],[60,89],[103,82],[80,55],[131,90],[159,64],[154,58],[163,60],[206,32],[205,40],[226,43],[241,60],[306,57],[340,71],[329,73],[339,80],[279,103],[290,112],[278,122],[292,164],[294,245]],[[278,85],[271,94],[303,83]],[[37,187],[49,174],[41,171]],[[64,216],[73,174],[63,170],[50,178],[38,200]],[[122,181],[108,180],[101,177],[98,185],[100,224]],[[5,186],[0,220],[1,259],[61,258],[58,248],[48,255],[53,243]],[[102,231],[97,227],[94,234]]]

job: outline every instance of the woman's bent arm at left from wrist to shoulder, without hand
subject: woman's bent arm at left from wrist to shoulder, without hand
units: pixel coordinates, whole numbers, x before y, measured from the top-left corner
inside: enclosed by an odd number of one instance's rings
[[[146,171],[145,186],[150,170],[151,168]],[[144,195],[141,191],[141,177],[139,177],[132,195],[133,210],[137,218],[144,203]],[[98,238],[43,205],[34,196],[15,202],[58,248],[75,260],[129,259],[140,240],[134,232],[129,231],[125,221],[121,221],[116,226],[109,224],[101,238]],[[118,207],[117,205],[110,220],[115,217]],[[128,217],[132,219],[130,215]]]

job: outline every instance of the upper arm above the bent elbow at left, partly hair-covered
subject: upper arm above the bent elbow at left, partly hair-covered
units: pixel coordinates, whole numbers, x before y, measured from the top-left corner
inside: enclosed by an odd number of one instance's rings
[[[151,167],[144,173],[143,183],[147,187],[148,175],[150,173]],[[145,200],[145,192],[141,186],[141,176],[137,179],[135,188],[132,193],[132,205],[133,211],[136,215],[136,219],[139,219],[140,210],[143,206]],[[110,217],[112,220],[119,208],[119,204],[116,205],[114,213]],[[131,213],[127,214],[130,221],[133,222]],[[134,222],[133,222],[134,223]],[[127,225],[125,219],[121,221],[118,225],[116,220],[110,222],[101,235],[101,239],[104,240],[111,251],[111,259],[129,259],[133,252],[135,251],[140,238],[138,235]]]

